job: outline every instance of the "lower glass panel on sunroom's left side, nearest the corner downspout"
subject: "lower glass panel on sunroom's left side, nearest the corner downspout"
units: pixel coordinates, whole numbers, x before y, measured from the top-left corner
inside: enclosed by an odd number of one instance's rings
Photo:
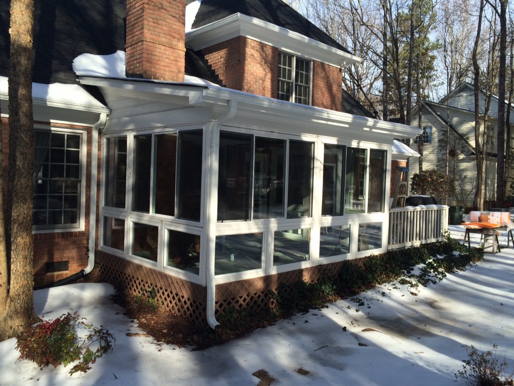
[[[200,273],[200,236],[169,230],[167,265],[198,275]]]

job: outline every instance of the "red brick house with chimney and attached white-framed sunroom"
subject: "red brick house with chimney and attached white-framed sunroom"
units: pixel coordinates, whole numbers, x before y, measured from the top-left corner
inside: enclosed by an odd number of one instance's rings
[[[393,138],[419,130],[366,116],[360,59],[281,0],[39,0],[35,25],[36,286],[96,266],[215,327],[387,250]]]

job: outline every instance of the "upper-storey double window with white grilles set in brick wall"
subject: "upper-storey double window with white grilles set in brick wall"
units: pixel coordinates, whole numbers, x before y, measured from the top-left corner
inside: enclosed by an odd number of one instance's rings
[[[310,62],[279,52],[277,98],[310,104]]]

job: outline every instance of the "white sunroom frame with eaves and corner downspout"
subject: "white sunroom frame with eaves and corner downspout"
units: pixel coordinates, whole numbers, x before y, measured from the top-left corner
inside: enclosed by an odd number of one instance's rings
[[[103,216],[119,216],[126,221],[124,251],[121,253],[102,245],[103,221],[100,221],[99,250],[206,286],[208,321],[212,327],[217,325],[214,319],[216,284],[299,270],[369,255],[370,250],[357,251],[359,224],[381,223],[382,248],[373,249],[372,251],[373,253],[382,253],[387,250],[388,197],[393,138],[412,138],[419,133],[419,129],[296,103],[278,101],[272,98],[225,89],[212,84],[203,83],[198,85],[93,77],[81,77],[80,80],[83,84],[98,86],[104,94],[109,108],[112,110],[103,132],[104,141],[107,137],[122,133],[127,134],[128,139],[134,133],[203,128],[204,168],[200,221],[194,222],[155,214],[135,214],[131,212],[129,209],[131,192],[130,182],[128,182],[131,176],[131,169],[128,165],[131,165],[131,160],[127,159],[127,202],[125,209],[113,209],[104,206],[103,193],[105,183],[103,179],[105,178],[105,173],[101,173],[102,192],[100,196],[100,220],[102,220]],[[311,192],[313,201],[311,217],[218,222],[217,162],[220,130],[244,131],[249,134],[287,139],[294,138],[314,143],[314,189]],[[323,133],[323,135],[319,133]],[[130,141],[127,142],[130,143]],[[321,216],[322,159],[323,145],[325,143],[355,148],[379,149],[387,152],[386,178],[384,180],[386,186],[383,198],[383,211],[381,213],[359,213],[337,217]],[[369,157],[370,152],[368,151],[367,153]],[[103,158],[104,155],[102,156]],[[102,160],[102,168],[105,168],[105,160]],[[366,176],[369,178],[369,173],[366,173]],[[368,180],[366,180],[365,186],[368,186]],[[131,256],[129,253],[130,235],[131,224],[134,219],[159,226],[160,235],[165,235],[166,232],[164,230],[166,229],[201,235],[199,276],[164,267],[162,261],[166,253],[165,237],[159,237],[159,258],[157,264],[153,264],[150,261],[142,261],[144,259]],[[320,259],[318,255],[321,227],[346,224],[353,227],[350,253]],[[305,228],[311,230],[309,259],[294,264],[273,266],[272,245],[274,231]],[[263,234],[261,269],[215,275],[214,255],[216,236],[254,232],[262,232]]]

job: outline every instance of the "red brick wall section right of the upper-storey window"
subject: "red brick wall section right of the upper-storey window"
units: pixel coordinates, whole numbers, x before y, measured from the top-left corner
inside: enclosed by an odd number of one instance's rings
[[[339,68],[314,61],[312,105],[341,111],[342,80]]]

